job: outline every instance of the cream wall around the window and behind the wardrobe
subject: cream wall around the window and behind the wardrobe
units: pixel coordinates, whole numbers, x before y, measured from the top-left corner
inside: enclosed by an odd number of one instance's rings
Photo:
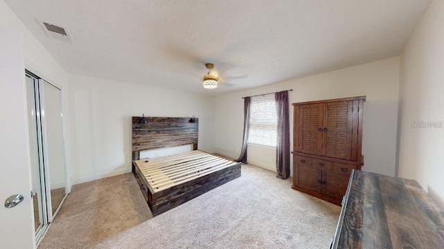
[[[291,104],[366,95],[362,145],[364,167],[362,169],[394,176],[398,88],[399,57],[393,57],[339,71],[219,96],[216,98],[216,151],[234,158],[239,156],[244,125],[244,100],[241,97],[293,89],[289,92]],[[292,134],[292,106],[290,110]],[[292,138],[291,147],[293,147]],[[250,146],[248,162],[275,170],[275,150]]]

